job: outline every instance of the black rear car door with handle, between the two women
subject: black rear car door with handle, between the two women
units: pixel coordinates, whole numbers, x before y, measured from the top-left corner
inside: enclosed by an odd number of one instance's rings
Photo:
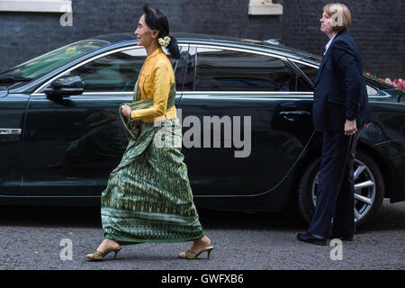
[[[311,85],[288,63],[247,49],[191,46],[180,108],[195,195],[266,193],[288,175],[313,132]]]

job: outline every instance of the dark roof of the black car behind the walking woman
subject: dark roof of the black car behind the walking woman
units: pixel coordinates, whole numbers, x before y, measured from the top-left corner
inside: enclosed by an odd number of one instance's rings
[[[311,54],[299,49],[293,49],[286,47],[283,44],[272,44],[262,40],[251,40],[237,37],[210,35],[210,34],[198,34],[198,33],[186,33],[186,32],[174,32],[175,38],[179,43],[201,43],[201,44],[223,44],[227,46],[238,46],[240,48],[247,49],[259,49],[275,52],[278,55],[284,57],[302,59],[304,61],[311,62],[312,64],[319,65],[321,57],[315,54]],[[97,35],[91,38],[92,40],[105,40],[111,44],[119,42],[137,42],[137,38],[133,32],[121,32]]]

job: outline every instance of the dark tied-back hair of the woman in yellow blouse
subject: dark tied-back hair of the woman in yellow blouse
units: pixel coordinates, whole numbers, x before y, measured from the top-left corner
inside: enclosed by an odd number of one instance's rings
[[[158,38],[170,37],[170,43],[166,46],[166,49],[170,53],[170,58],[180,58],[180,50],[178,49],[177,40],[170,34],[169,24],[166,14],[160,9],[153,9],[148,4],[143,6],[145,12],[145,22],[152,30],[159,31]]]

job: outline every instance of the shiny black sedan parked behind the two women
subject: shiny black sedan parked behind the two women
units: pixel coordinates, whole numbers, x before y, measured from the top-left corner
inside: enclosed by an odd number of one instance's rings
[[[177,34],[175,105],[199,208],[279,211],[310,221],[320,135],[311,121],[320,58],[282,44]],[[0,74],[0,202],[99,205],[127,139],[146,56],[132,33],[80,40]],[[356,223],[405,200],[405,97],[365,77],[374,124],[357,146]]]

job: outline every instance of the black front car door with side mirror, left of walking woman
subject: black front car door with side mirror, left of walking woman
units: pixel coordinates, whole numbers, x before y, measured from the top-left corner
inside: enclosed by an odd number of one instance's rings
[[[110,51],[62,74],[80,76],[83,94],[48,97],[47,84],[31,95],[23,153],[27,193],[100,196],[128,144],[118,109],[132,102],[145,57],[141,47]]]

